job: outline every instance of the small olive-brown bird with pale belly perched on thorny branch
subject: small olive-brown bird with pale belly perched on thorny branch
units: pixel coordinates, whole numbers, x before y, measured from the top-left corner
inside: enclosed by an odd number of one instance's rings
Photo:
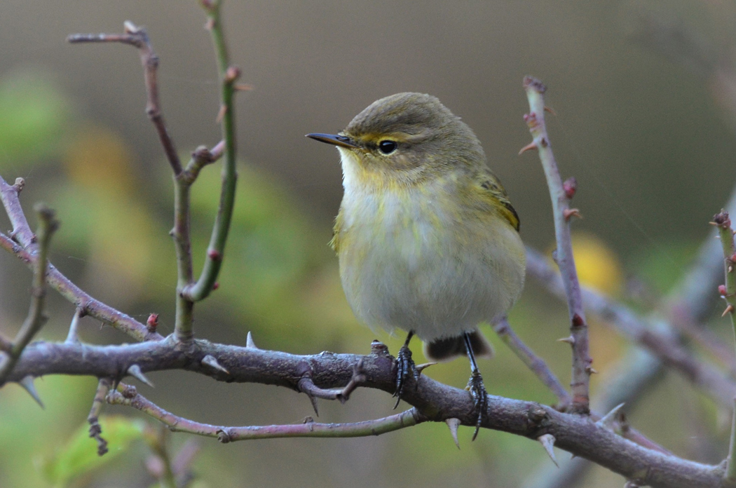
[[[408,332],[394,396],[419,378],[412,336],[431,360],[467,354],[475,439],[487,409],[475,356],[493,352],[478,325],[506,314],[526,269],[519,216],[478,138],[422,93],[387,96],[339,134],[307,137],[339,149],[344,197],[330,245],[350,307],[371,328]]]

